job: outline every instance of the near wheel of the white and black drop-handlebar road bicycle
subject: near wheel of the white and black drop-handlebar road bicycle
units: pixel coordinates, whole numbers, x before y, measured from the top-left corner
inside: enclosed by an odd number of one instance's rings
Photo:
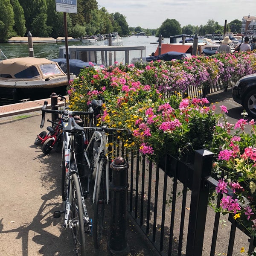
[[[71,231],[76,255],[85,256],[85,237],[84,237],[84,210],[81,198],[79,180],[76,174],[71,177],[71,198],[70,198],[70,216]]]

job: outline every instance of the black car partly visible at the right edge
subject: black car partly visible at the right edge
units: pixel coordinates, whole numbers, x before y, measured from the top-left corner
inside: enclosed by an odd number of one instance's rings
[[[256,117],[256,73],[240,78],[232,88],[233,100],[251,117]]]

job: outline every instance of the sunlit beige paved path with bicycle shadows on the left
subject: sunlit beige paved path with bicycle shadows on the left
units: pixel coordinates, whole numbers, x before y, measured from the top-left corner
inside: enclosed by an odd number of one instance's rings
[[[50,114],[46,114],[46,119]],[[70,230],[62,227],[61,154],[44,155],[35,146],[41,111],[0,118],[0,256],[75,256]],[[47,126],[45,123],[44,130]],[[90,200],[88,212],[93,216]],[[127,241],[132,256],[156,256],[151,243],[128,217]],[[87,237],[88,256],[107,256],[109,226],[99,250]]]

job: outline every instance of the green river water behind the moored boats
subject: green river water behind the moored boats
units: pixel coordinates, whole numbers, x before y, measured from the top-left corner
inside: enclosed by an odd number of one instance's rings
[[[146,56],[155,52],[157,49],[157,37],[155,36],[131,36],[122,38],[124,46],[146,46]],[[154,43],[154,44],[151,44]],[[104,41],[98,41],[97,43],[90,43],[90,45],[103,45]],[[59,47],[64,46],[64,42],[57,43],[35,43],[34,57],[36,58],[58,58]],[[68,45],[88,45],[81,41],[68,42]],[[28,44],[19,43],[5,43],[0,44],[0,49],[6,55],[7,58],[17,58],[17,57],[29,57],[29,46]],[[2,59],[3,57],[0,56]]]

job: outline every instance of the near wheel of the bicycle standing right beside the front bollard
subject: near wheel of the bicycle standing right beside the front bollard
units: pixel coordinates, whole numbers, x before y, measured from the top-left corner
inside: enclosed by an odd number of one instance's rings
[[[104,225],[105,204],[107,200],[106,195],[106,171],[104,160],[99,161],[99,175],[97,178],[96,194],[94,200],[93,212],[93,243],[95,249],[98,249],[101,240]]]

